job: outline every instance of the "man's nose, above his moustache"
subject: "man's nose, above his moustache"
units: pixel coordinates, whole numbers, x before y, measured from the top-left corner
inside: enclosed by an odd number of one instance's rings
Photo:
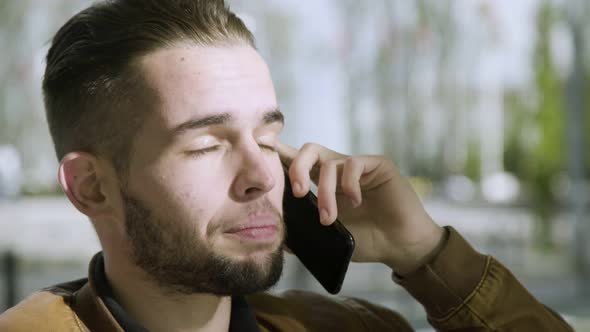
[[[270,159],[258,145],[244,148],[239,159],[239,171],[232,185],[232,196],[236,201],[255,200],[268,193],[275,186]]]

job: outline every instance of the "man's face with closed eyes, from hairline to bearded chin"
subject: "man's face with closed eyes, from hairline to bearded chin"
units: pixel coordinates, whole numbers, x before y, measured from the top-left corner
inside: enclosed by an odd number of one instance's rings
[[[282,129],[266,64],[248,46],[178,45],[143,57],[158,102],[123,179],[133,262],[164,289],[272,286],[282,269]]]

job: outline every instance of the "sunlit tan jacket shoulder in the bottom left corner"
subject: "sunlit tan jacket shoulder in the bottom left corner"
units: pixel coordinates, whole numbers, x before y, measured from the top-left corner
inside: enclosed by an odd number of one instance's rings
[[[68,331],[79,326],[70,299],[80,280],[31,294],[0,315],[0,331]]]

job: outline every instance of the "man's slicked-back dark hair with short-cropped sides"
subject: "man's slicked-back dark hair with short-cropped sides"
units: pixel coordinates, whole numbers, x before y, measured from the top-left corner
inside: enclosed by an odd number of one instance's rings
[[[72,151],[126,171],[154,104],[139,59],[179,44],[249,45],[254,37],[223,0],[110,0],[62,26],[47,53],[43,95],[58,159]]]

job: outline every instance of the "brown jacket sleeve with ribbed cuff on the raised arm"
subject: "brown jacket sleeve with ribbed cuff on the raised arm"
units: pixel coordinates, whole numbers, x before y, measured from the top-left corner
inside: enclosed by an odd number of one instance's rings
[[[426,264],[393,279],[426,309],[440,331],[573,331],[510,271],[473,249],[452,227]]]

